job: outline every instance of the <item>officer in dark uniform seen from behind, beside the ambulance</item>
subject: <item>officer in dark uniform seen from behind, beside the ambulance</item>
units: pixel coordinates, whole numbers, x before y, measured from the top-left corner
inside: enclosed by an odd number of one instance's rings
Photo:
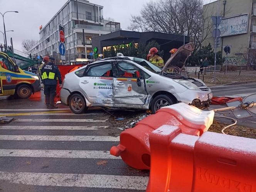
[[[44,83],[44,94],[46,106],[48,109],[56,109],[57,106],[54,105],[54,98],[56,95],[57,79],[59,80],[59,85],[61,86],[61,72],[59,68],[55,65],[54,57],[49,58],[49,62],[45,64],[42,69],[42,81]]]

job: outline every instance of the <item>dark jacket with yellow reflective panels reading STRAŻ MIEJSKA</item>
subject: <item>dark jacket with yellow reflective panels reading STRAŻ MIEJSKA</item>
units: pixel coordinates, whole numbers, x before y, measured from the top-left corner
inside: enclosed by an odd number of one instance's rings
[[[59,84],[62,84],[61,72],[52,62],[44,65],[41,69],[41,73],[41,78],[45,85],[55,85],[57,84],[57,79],[59,80]]]

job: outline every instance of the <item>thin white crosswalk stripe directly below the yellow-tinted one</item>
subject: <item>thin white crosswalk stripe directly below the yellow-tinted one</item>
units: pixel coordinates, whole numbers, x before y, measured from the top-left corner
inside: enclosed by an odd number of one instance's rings
[[[17,119],[13,122],[106,122],[106,120],[94,119]]]

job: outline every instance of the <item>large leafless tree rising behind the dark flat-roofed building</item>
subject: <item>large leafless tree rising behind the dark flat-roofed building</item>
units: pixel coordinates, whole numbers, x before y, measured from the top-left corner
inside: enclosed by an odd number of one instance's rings
[[[212,23],[207,25],[207,35],[211,32]],[[155,31],[168,34],[185,34],[200,47],[204,30],[204,10],[202,0],[159,0],[146,3],[140,16],[131,15],[130,30]]]

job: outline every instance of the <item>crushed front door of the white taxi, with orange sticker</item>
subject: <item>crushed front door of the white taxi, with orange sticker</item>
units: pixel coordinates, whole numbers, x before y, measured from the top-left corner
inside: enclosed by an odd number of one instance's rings
[[[128,62],[116,62],[115,104],[145,104],[147,91],[140,69]]]

